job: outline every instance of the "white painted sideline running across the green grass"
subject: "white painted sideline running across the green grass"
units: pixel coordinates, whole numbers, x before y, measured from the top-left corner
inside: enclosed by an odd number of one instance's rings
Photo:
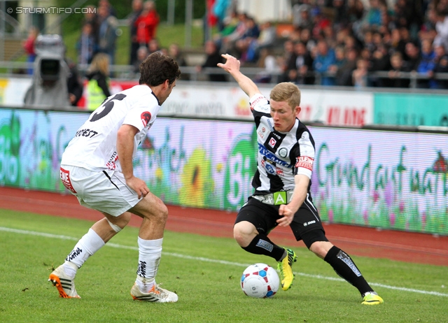
[[[6,232],[12,232],[14,234],[27,234],[29,236],[43,236],[45,238],[55,238],[55,239],[62,239],[62,240],[71,240],[71,241],[78,241],[79,238],[73,238],[71,236],[61,236],[58,234],[46,234],[45,232],[37,232],[37,231],[28,231],[28,230],[20,230],[20,229],[10,229],[6,227],[0,227],[0,231],[6,231]],[[106,245],[109,245],[109,247],[115,247],[118,249],[129,249],[129,250],[139,250],[138,247],[131,247],[128,245],[119,245],[117,243],[106,243]],[[238,267],[244,267],[246,268],[250,264],[241,264],[239,262],[232,262],[232,261],[225,261],[225,260],[219,260],[219,259],[209,259],[204,257],[194,257],[194,256],[188,256],[187,254],[176,254],[174,252],[162,252],[162,254],[177,258],[183,258],[183,259],[190,259],[190,260],[196,260],[196,261],[206,261],[206,262],[212,262],[215,264],[224,264],[224,265],[231,265],[231,266],[238,266]],[[342,278],[334,278],[334,277],[327,277],[322,275],[310,275],[308,273],[297,273],[294,272],[296,275],[308,277],[308,278],[317,278],[317,279],[323,279],[323,280],[335,280],[338,282],[344,282]],[[448,297],[448,294],[443,294],[439,292],[428,292],[425,290],[420,289],[413,289],[413,288],[405,288],[405,287],[397,287],[397,286],[390,286],[390,285],[384,285],[379,284],[377,282],[370,282],[369,283],[372,286],[387,288],[387,289],[395,289],[400,290],[403,292],[413,292],[413,293],[419,293],[419,294],[426,294],[426,295],[434,295],[434,296],[445,296]]]

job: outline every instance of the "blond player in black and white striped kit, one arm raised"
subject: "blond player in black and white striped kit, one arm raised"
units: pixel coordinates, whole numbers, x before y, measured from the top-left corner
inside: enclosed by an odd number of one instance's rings
[[[293,250],[279,247],[267,235],[277,225],[290,226],[297,241],[325,260],[336,273],[358,289],[363,304],[377,305],[383,299],[367,283],[351,257],[325,236],[318,211],[311,199],[314,139],[297,119],[300,89],[291,82],[276,85],[270,100],[257,85],[239,71],[239,61],[224,54],[219,67],[230,73],[249,96],[258,139],[257,171],[252,180],[255,192],[239,210],[233,234],[237,243],[253,254],[278,261],[281,287],[288,290],[294,275]]]

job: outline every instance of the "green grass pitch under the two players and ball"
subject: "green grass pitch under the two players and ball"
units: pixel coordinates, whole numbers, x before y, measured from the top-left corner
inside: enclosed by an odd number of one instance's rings
[[[353,257],[384,298],[363,306],[358,291],[308,250],[295,280],[272,299],[239,287],[248,264],[265,262],[229,238],[166,231],[157,281],[177,303],[133,301],[138,228],[127,227],[76,276],[81,299],[60,299],[48,282],[92,222],[0,210],[0,322],[448,322],[448,267]]]

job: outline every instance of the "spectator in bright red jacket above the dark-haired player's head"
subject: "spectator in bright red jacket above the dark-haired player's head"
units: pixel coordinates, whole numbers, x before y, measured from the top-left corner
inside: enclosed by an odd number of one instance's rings
[[[159,24],[159,14],[155,9],[154,1],[145,1],[140,16],[135,21],[137,27],[137,42],[140,46],[147,46],[149,42],[155,38],[157,27]],[[151,49],[149,49],[151,54]]]

